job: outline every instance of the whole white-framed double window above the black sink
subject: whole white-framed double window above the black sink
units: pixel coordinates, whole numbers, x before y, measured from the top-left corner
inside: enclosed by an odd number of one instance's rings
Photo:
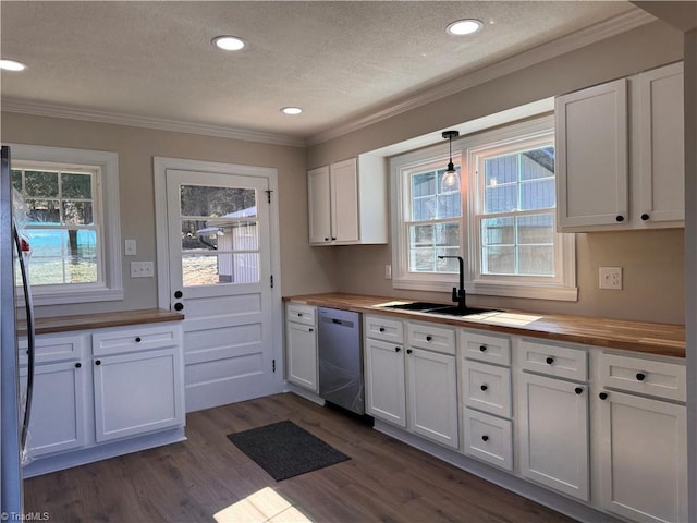
[[[460,150],[458,156],[453,151],[453,161],[458,159],[462,172],[456,193],[443,193],[438,183],[448,160],[435,160],[436,147],[391,160],[398,195],[394,287],[448,291],[457,262],[438,256],[460,255],[468,292],[576,300],[574,236],[554,232],[552,118],[510,124],[453,145]],[[457,198],[460,205],[453,202]]]

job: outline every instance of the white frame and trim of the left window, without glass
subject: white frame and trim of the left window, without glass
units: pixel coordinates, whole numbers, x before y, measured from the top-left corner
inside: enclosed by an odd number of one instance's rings
[[[94,214],[100,214],[97,232],[102,272],[96,283],[63,283],[32,287],[34,305],[63,305],[123,300],[121,224],[119,207],[119,156],[115,153],[27,144],[8,144],[12,162],[21,169],[78,167],[95,170]],[[20,168],[20,167],[16,167]],[[15,169],[16,169],[15,168]],[[30,276],[29,276],[30,278]]]

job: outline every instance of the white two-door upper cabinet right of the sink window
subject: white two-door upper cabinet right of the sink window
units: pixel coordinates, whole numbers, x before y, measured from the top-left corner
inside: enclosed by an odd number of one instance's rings
[[[683,64],[560,96],[558,230],[683,227]]]

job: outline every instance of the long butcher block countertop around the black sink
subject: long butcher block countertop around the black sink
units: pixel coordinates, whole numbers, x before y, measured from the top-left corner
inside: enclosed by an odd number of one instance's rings
[[[486,317],[436,316],[428,313],[384,308],[384,304],[409,303],[412,300],[366,296],[359,294],[325,293],[288,296],[286,302],[318,307],[342,308],[357,313],[374,313],[404,319],[419,319],[438,324],[472,327],[509,335],[529,336],[548,340],[587,345],[623,349],[662,356],[685,357],[685,327],[683,325],[628,321],[622,319],[573,316],[565,314],[504,311]]]

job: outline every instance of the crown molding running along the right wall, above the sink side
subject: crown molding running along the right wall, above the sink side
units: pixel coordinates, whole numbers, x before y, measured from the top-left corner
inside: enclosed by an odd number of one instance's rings
[[[457,76],[431,88],[427,88],[412,97],[402,99],[396,104],[374,111],[364,118],[351,120],[344,124],[333,126],[331,130],[309,136],[306,139],[306,143],[308,146],[311,146],[337,138],[412,109],[416,109],[420,106],[425,106],[426,104],[454,95],[461,90],[475,87],[484,84],[485,82],[489,82],[522,69],[529,68],[539,62],[543,62],[545,60],[552,59],[560,54],[595,44],[596,41],[646,25],[656,20],[656,16],[640,9],[622,13],[612,19],[604,20],[594,26],[579,29],[555,40],[548,41],[547,44],[542,44],[534,47],[533,49],[514,54],[513,57],[509,57],[491,65],[484,66],[470,73],[465,73],[462,76]]]

